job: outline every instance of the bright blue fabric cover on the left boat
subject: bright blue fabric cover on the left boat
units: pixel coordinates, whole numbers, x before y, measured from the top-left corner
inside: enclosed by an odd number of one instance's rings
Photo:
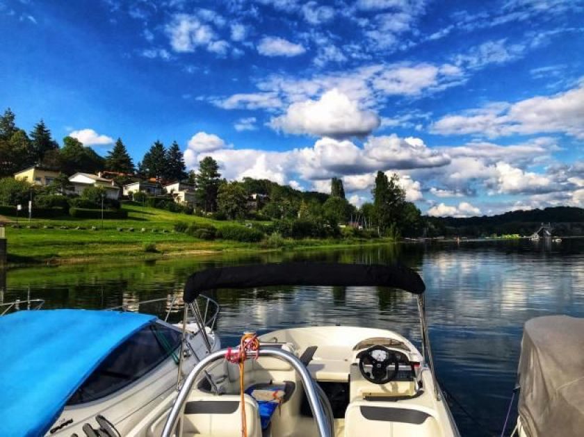
[[[0,434],[42,436],[108,354],[153,315],[90,310],[0,317]]]

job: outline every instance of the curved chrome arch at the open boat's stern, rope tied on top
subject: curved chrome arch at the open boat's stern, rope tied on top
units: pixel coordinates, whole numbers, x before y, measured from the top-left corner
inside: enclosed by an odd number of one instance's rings
[[[213,361],[217,361],[221,358],[225,358],[225,354],[227,353],[227,349],[222,349],[217,352],[213,352],[209,356],[203,358],[193,370],[190,371],[188,377],[184,381],[184,384],[179,391],[179,395],[177,396],[177,400],[175,404],[172,406],[170,410],[170,414],[166,419],[166,423],[164,424],[164,429],[162,431],[162,437],[170,437],[172,433],[175,431],[177,424],[179,422],[179,416],[184,409],[184,404],[186,403],[186,399],[188,399],[188,395],[190,395],[190,390],[192,390],[193,385],[195,384],[195,380],[197,377],[202,373],[202,371]],[[312,410],[312,415],[316,420],[316,427],[318,429],[318,435],[321,437],[332,437],[331,429],[332,426],[329,424],[327,419],[327,415],[325,415],[325,411],[323,409],[323,405],[321,404],[318,393],[314,386],[314,380],[310,376],[309,371],[307,370],[306,366],[302,364],[296,356],[291,354],[290,352],[286,352],[282,349],[271,349],[271,348],[264,348],[259,349],[258,351],[259,356],[275,356],[280,358],[284,361],[290,363],[293,368],[295,368],[296,372],[300,374],[302,378],[302,385],[305,388],[305,392],[310,404],[310,408]]]

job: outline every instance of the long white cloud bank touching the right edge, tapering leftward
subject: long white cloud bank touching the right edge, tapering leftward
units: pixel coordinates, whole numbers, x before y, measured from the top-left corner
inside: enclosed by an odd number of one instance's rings
[[[432,125],[441,135],[505,135],[565,133],[584,138],[584,83],[560,94],[532,97],[514,104],[502,102],[446,115]]]

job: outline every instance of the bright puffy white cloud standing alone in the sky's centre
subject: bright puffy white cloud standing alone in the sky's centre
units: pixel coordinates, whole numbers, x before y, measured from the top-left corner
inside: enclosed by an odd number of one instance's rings
[[[325,92],[318,101],[291,104],[284,115],[271,120],[270,126],[287,133],[317,136],[364,136],[380,124],[379,117],[359,108],[337,89]]]

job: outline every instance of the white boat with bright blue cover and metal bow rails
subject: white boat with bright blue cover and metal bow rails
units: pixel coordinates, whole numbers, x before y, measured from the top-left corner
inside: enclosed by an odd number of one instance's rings
[[[0,306],[0,435],[126,436],[177,382],[220,349],[213,330],[218,304],[208,297],[163,302],[164,320],[127,311],[42,309],[42,299]],[[4,308],[3,310],[1,308]],[[31,311],[26,311],[30,308]],[[9,312],[9,310],[18,310]]]

